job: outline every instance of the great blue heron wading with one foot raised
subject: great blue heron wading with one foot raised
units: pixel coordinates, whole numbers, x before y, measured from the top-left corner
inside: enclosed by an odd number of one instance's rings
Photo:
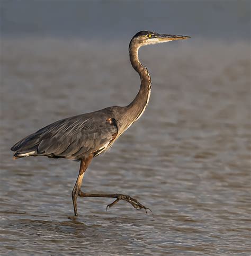
[[[75,216],[78,215],[78,196],[116,198],[107,207],[112,207],[118,201],[125,200],[136,209],[147,211],[149,208],[130,196],[117,193],[111,195],[84,193],[80,187],[85,171],[93,157],[107,151],[115,140],[141,117],[147,107],[151,92],[151,77],[147,68],[139,61],[139,48],[187,38],[189,37],[158,34],[151,31],[140,31],[135,34],[129,44],[129,54],[131,65],[139,73],[141,81],[136,98],[125,107],[113,106],[53,122],[17,142],[11,148],[12,151],[15,151],[14,159],[27,156],[48,156],[80,161],[77,181],[71,192]]]

